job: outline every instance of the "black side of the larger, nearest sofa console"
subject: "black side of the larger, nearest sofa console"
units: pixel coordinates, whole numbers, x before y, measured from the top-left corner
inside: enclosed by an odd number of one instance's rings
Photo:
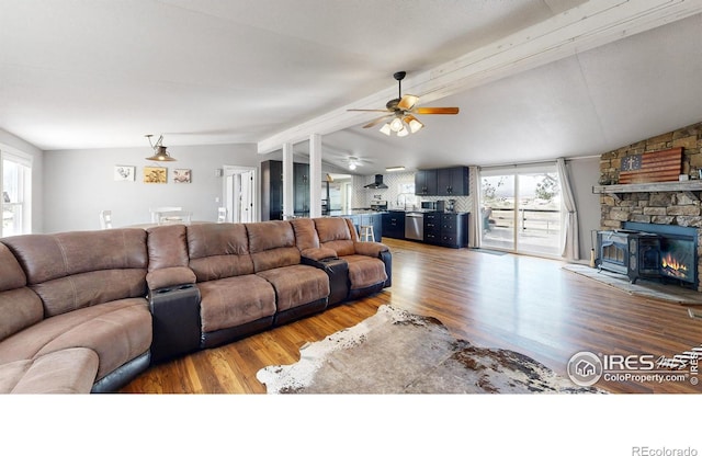
[[[152,364],[200,349],[200,299],[194,284],[149,290]]]

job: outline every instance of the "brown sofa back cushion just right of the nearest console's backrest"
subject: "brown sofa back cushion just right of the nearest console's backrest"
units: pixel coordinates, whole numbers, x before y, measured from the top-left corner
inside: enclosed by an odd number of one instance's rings
[[[197,282],[253,273],[244,224],[188,226],[188,254]]]

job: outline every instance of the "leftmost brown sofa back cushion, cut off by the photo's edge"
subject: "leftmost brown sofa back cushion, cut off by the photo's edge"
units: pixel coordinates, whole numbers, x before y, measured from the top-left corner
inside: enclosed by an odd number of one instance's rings
[[[25,285],[20,263],[0,243],[0,341],[44,318],[42,300]]]

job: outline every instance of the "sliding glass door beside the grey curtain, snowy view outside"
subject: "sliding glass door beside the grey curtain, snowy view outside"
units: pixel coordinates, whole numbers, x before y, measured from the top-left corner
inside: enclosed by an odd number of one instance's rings
[[[482,247],[557,256],[563,218],[555,163],[480,171]]]

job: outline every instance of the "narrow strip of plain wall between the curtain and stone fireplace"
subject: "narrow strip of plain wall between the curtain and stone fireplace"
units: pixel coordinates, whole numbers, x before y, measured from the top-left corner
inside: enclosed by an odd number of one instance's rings
[[[590,261],[591,232],[600,227],[600,197],[592,193],[592,185],[600,179],[600,158],[588,157],[567,160],[570,183],[578,208],[580,231],[580,260]]]

